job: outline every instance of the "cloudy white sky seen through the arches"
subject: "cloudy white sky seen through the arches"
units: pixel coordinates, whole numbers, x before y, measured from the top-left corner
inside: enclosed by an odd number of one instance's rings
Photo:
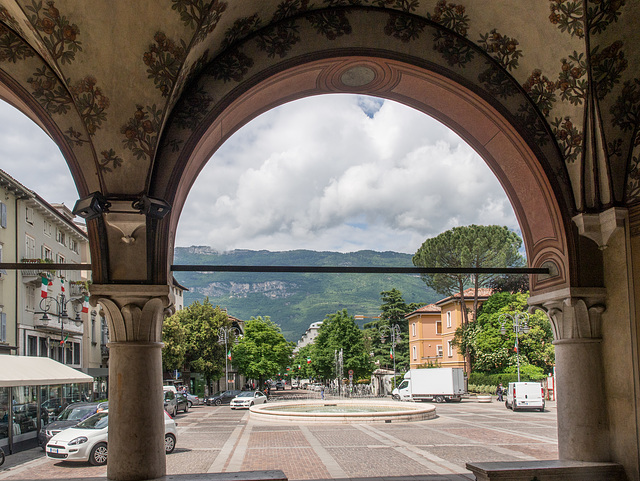
[[[49,202],[77,192],[60,151],[0,104],[2,169]],[[299,100],[256,118],[196,181],[176,245],[230,249],[392,250],[413,254],[451,227],[518,229],[497,179],[456,134],[391,101]]]

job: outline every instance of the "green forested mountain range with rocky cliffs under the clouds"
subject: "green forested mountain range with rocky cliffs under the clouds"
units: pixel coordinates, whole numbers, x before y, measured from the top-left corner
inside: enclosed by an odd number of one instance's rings
[[[411,254],[357,251],[350,253],[293,250],[233,250],[217,252],[207,246],[176,247],[174,264],[239,266],[347,266],[412,267]],[[442,296],[417,275],[176,272],[176,280],[189,290],[185,306],[205,297],[226,308],[229,315],[248,320],[269,316],[289,341],[297,341],[310,324],[327,314],[347,309],[364,316],[362,325],[380,314],[380,293],[393,288],[407,304],[430,303]]]

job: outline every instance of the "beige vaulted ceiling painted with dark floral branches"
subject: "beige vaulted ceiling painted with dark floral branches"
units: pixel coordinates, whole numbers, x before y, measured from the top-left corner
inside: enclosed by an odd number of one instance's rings
[[[234,92],[356,52],[488,99],[560,159],[576,213],[640,202],[636,1],[0,0],[0,22],[0,96],[60,145],[81,196],[175,201]]]

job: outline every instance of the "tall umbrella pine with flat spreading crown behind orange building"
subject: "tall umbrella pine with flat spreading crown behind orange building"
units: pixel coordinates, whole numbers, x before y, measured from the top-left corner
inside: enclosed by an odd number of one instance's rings
[[[522,239],[507,227],[497,225],[470,225],[454,227],[442,234],[424,241],[413,256],[413,264],[418,267],[481,268],[520,267],[524,259],[519,253]],[[478,318],[478,289],[488,287],[496,274],[423,274],[422,280],[436,292],[444,296],[459,294],[463,325],[467,327],[469,317],[464,291],[474,288],[473,319]],[[471,366],[471,356],[465,350],[467,372]]]

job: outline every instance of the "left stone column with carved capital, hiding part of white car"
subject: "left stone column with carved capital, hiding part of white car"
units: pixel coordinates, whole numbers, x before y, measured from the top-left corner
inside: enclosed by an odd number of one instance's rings
[[[169,286],[99,284],[91,304],[109,323],[109,458],[107,478],[165,475],[162,321]]]

